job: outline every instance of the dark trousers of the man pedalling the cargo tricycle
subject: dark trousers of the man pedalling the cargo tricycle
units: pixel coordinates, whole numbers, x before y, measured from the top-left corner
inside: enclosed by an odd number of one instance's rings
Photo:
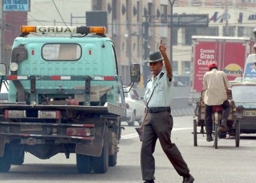
[[[206,135],[212,134],[212,108],[213,105],[205,104],[205,130]],[[228,100],[225,100],[222,104],[222,119],[228,120],[228,115],[230,113],[230,104]]]

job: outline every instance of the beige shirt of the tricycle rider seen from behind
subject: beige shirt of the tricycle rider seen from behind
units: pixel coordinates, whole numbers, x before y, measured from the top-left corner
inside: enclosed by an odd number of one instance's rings
[[[227,100],[226,89],[229,88],[227,75],[223,71],[212,69],[205,73],[203,89],[205,90],[204,102],[208,105],[223,104]]]

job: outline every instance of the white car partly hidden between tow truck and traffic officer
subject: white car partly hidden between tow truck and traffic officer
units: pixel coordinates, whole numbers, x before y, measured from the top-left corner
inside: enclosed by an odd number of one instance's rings
[[[126,123],[133,126],[135,121],[139,125],[143,122],[143,117],[146,112],[146,104],[140,100],[138,93],[134,88],[123,88],[125,101],[126,101]]]

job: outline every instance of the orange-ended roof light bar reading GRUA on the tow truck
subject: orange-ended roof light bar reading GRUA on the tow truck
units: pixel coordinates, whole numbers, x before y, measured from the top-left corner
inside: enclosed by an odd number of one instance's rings
[[[21,25],[21,33],[41,33],[41,34],[106,34],[106,27],[72,27],[72,26],[28,26]]]

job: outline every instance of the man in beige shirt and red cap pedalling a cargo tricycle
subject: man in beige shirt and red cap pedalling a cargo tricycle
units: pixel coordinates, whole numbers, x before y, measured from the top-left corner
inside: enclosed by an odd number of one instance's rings
[[[214,105],[222,105],[222,131],[227,131],[227,120],[231,105],[228,101],[227,89],[229,88],[228,78],[225,72],[218,70],[216,63],[208,65],[208,72],[203,77],[203,90],[205,90],[205,130],[206,141],[212,139],[212,108]]]

